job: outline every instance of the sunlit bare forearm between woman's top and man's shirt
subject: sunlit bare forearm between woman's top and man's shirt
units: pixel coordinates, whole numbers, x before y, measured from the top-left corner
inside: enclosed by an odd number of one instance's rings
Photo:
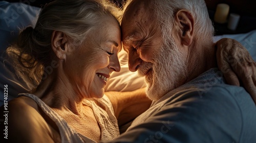
[[[129,92],[109,91],[105,92],[105,94],[113,104],[119,126],[134,120],[134,118],[146,111],[152,103],[146,97],[145,88]]]

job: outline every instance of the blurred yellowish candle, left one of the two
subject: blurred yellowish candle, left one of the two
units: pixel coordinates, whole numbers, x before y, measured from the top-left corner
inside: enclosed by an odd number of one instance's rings
[[[214,21],[217,23],[225,23],[227,21],[228,12],[229,6],[227,4],[218,4],[214,15]]]

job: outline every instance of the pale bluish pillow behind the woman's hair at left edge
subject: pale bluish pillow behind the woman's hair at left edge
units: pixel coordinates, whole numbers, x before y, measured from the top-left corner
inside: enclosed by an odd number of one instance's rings
[[[31,90],[34,85],[29,84],[25,77],[17,77],[12,64],[6,59],[5,50],[12,44],[19,33],[19,28],[33,26],[40,8],[23,3],[0,2],[0,106],[4,103],[4,85],[8,86],[8,101],[17,97],[20,92]],[[6,91],[5,91],[6,92]],[[5,96],[6,97],[6,96]]]

